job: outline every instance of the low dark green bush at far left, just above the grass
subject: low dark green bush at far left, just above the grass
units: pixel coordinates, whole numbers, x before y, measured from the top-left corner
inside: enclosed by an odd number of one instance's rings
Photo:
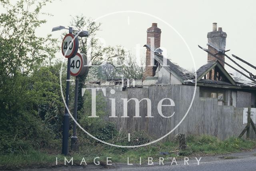
[[[26,151],[30,147],[40,148],[50,145],[54,134],[42,124],[39,117],[31,113],[19,113],[1,118],[0,153],[17,153]]]

